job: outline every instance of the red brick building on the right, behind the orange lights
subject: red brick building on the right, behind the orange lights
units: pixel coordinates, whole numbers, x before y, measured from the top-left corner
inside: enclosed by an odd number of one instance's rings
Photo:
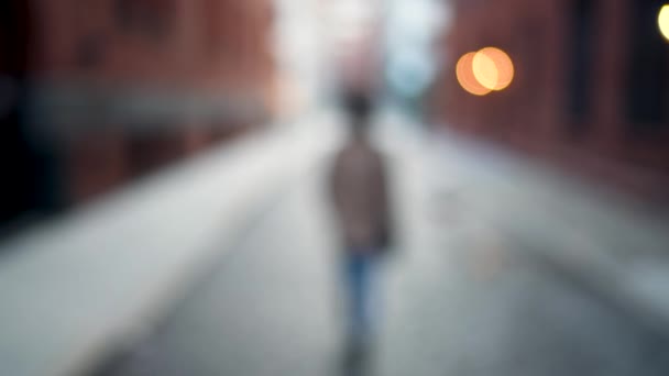
[[[669,188],[669,44],[657,0],[453,0],[446,63],[430,98],[449,126],[566,163],[643,193]],[[514,60],[485,97],[454,65],[485,46]]]

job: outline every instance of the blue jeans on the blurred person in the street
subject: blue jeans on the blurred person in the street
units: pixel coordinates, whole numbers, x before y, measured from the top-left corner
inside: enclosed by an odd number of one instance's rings
[[[350,334],[366,336],[372,331],[374,280],[377,255],[350,251],[346,259],[346,284]]]

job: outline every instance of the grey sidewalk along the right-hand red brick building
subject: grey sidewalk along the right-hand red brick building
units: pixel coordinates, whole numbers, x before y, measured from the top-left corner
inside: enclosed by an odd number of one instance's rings
[[[669,222],[639,200],[448,132],[426,142],[442,202],[470,212],[669,340]]]

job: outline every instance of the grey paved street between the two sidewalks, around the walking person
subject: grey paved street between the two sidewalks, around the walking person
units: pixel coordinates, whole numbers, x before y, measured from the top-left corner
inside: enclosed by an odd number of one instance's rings
[[[358,374],[669,373],[661,335],[578,276],[531,256],[467,200],[445,198],[449,169],[437,170],[429,143],[380,140],[393,161],[401,241],[380,276],[377,344]],[[326,170],[277,193],[155,332],[96,376],[352,375],[341,361]]]

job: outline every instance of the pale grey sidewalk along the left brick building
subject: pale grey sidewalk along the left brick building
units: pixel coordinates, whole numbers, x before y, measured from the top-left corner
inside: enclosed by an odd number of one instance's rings
[[[337,139],[277,126],[0,245],[0,375],[81,374],[145,329]]]

